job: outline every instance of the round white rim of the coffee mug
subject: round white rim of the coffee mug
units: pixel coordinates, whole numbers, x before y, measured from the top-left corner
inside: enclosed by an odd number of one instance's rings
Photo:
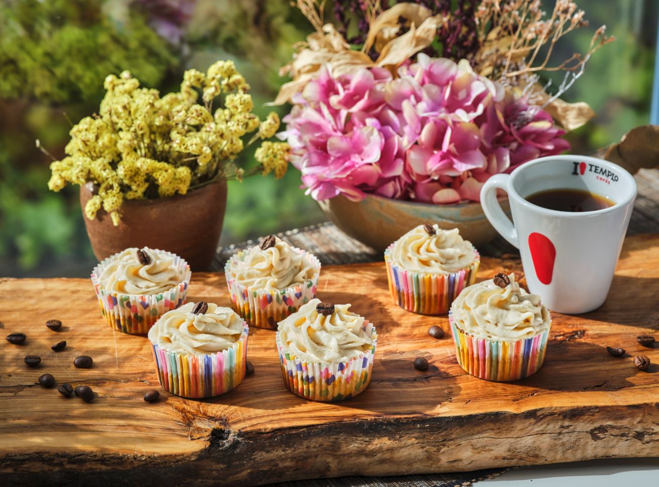
[[[583,162],[596,162],[597,164],[600,164],[602,166],[608,166],[610,169],[615,169],[620,172],[621,178],[627,179],[629,184],[631,185],[631,191],[629,191],[629,194],[625,196],[623,199],[620,201],[617,201],[615,205],[610,206],[608,208],[603,208],[600,210],[593,210],[593,211],[580,211],[580,212],[572,212],[572,211],[558,211],[558,210],[550,210],[548,208],[544,207],[539,207],[538,205],[534,205],[533,203],[530,203],[527,199],[523,198],[519,193],[517,193],[517,190],[515,189],[515,179],[521,172],[524,170],[527,170],[529,168],[532,168],[532,166],[536,166],[538,164],[542,164],[544,162],[548,162],[551,160],[569,160],[569,161],[574,161],[575,159],[579,159],[579,161]],[[632,176],[627,170],[624,168],[621,168],[621,166],[618,166],[617,164],[614,164],[613,162],[609,162],[608,160],[596,158],[596,157],[591,157],[591,156],[579,156],[577,154],[565,154],[565,155],[560,155],[560,156],[546,156],[546,157],[540,157],[537,159],[530,160],[529,162],[526,162],[525,164],[522,164],[521,166],[515,168],[513,172],[510,174],[510,179],[509,183],[507,184],[506,191],[508,195],[511,195],[517,203],[522,205],[523,207],[526,207],[527,209],[534,210],[536,212],[541,212],[550,216],[561,216],[563,218],[587,218],[588,216],[598,216],[600,214],[607,214],[611,213],[614,211],[617,211],[623,207],[627,207],[629,203],[631,203],[637,195],[637,185],[636,185],[636,180],[634,179],[634,176]]]

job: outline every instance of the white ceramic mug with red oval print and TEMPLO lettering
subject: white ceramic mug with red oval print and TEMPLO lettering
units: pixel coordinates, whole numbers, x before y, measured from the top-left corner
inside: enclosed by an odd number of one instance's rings
[[[508,193],[513,222],[501,210],[497,190]],[[616,204],[596,211],[567,212],[533,205],[527,197],[550,189],[581,189]],[[529,291],[559,313],[599,308],[611,287],[636,181],[620,166],[584,156],[549,156],[497,174],[480,191],[492,226],[519,248]]]

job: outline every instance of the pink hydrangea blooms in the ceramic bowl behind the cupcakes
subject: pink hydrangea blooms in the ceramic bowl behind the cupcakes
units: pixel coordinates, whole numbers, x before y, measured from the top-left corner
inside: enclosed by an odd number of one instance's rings
[[[419,53],[397,75],[365,67],[333,76],[326,66],[293,96],[279,137],[314,199],[479,201],[493,174],[569,148],[547,112],[469,61]]]

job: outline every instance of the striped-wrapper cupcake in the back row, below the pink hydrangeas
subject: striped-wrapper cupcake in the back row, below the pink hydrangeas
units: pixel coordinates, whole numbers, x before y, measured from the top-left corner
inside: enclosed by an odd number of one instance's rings
[[[457,228],[424,224],[384,252],[389,291],[401,308],[422,315],[448,312],[455,296],[476,280],[478,251]]]

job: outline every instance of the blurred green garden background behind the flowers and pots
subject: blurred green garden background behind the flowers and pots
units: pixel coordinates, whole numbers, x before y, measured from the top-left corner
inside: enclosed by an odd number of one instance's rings
[[[546,10],[553,6],[543,3]],[[648,123],[658,5],[577,3],[591,27],[569,36],[557,55],[583,50],[600,24],[617,38],[592,57],[564,97],[586,101],[598,114],[569,135],[574,152],[592,152]],[[163,16],[174,34],[159,28]],[[277,71],[290,59],[292,44],[309,32],[289,0],[2,0],[0,276],[86,276],[94,265],[77,187],[47,190],[49,160],[34,140],[62,156],[67,117],[77,122],[98,110],[106,75],[129,69],[144,85],[167,92],[177,88],[185,69],[233,59],[252,84],[262,115],[285,81]],[[283,115],[287,108],[278,110]],[[242,163],[251,160],[246,152]],[[221,243],[322,221],[299,185],[293,168],[279,181],[256,176],[229,183]]]

